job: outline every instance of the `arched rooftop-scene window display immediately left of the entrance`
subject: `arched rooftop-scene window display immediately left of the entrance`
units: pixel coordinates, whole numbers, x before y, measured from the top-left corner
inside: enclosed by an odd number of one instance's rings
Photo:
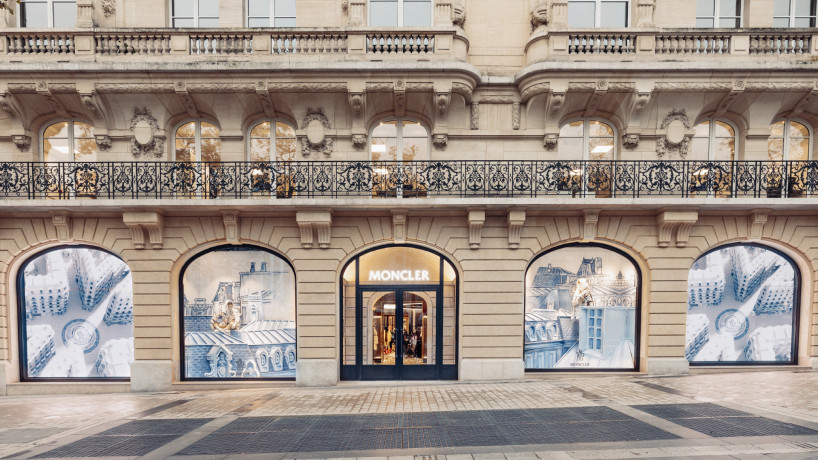
[[[222,247],[182,274],[184,377],[294,378],[295,275],[275,254]]]

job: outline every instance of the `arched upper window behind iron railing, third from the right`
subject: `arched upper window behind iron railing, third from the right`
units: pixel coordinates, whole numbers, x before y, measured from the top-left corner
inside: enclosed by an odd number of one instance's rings
[[[615,139],[613,127],[604,121],[575,120],[560,128],[560,157],[566,160],[613,160]]]

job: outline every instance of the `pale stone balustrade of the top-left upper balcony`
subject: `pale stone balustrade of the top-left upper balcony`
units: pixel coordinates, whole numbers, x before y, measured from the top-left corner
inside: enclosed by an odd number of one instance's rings
[[[467,41],[452,27],[393,29],[5,29],[6,60],[126,62],[417,57],[465,60]],[[456,55],[456,56],[455,56]]]

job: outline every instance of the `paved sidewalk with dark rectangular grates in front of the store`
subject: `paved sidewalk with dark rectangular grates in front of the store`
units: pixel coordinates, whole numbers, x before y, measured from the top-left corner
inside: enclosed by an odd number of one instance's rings
[[[0,397],[0,458],[818,458],[818,372]]]

